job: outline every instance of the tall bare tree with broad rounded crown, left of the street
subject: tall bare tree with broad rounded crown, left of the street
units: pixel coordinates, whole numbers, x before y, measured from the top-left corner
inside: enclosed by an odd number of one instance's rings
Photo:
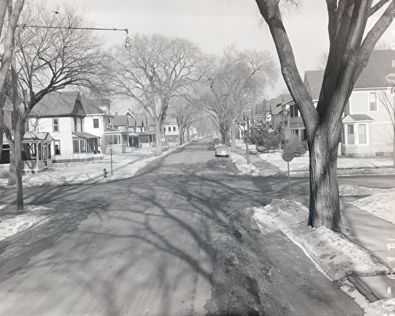
[[[115,90],[136,100],[154,120],[156,155],[160,155],[170,99],[200,80],[202,53],[183,38],[136,34],[130,52],[118,48],[113,55]]]

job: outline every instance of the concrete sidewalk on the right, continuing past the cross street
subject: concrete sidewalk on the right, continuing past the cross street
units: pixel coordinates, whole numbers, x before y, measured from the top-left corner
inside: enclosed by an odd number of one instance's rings
[[[238,148],[237,153],[246,157],[245,150],[241,148]],[[264,172],[264,175],[284,174],[284,171],[259,159],[252,152],[249,156],[250,163]],[[309,207],[309,196],[298,196],[295,200]],[[395,226],[349,204],[353,200],[357,200],[357,198],[340,198],[341,217],[344,226],[348,228],[346,236],[351,242],[373,253],[380,262],[392,269],[394,274],[349,276],[348,280],[372,303],[378,300],[393,299],[395,296]]]

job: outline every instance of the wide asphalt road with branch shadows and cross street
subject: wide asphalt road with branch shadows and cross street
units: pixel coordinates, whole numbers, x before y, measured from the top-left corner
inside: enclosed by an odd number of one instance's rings
[[[128,180],[25,189],[26,203],[58,212],[0,242],[0,315],[363,315],[252,220],[252,207],[287,194],[285,177],[237,175],[209,140]]]

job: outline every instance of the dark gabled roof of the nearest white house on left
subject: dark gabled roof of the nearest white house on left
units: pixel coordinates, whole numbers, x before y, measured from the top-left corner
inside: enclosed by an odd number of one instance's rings
[[[85,116],[81,105],[81,95],[78,91],[52,92],[35,104],[29,116]]]

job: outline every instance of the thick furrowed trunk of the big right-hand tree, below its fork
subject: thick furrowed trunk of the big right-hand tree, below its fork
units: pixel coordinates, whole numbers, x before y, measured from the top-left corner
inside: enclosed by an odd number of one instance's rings
[[[339,186],[337,182],[337,148],[339,142],[330,141],[328,127],[319,127],[314,141],[309,144],[310,200],[309,226],[325,226],[343,232]]]

